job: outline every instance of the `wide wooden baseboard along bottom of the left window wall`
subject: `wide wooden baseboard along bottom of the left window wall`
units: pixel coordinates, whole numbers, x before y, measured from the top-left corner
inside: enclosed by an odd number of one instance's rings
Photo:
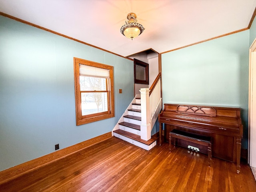
[[[3,170],[0,172],[0,185],[8,182],[10,180],[13,180],[23,174],[26,174],[27,172],[30,172],[32,170],[35,170],[41,166],[44,166],[46,164],[52,163],[56,160],[60,160],[62,158],[65,158],[66,156],[69,156],[75,152],[78,152],[80,150],[83,150],[84,148],[87,148],[89,146],[92,146],[96,143],[102,142],[104,140],[107,140],[112,137],[112,133],[108,132],[105,134],[102,134],[100,136],[91,138],[89,140],[80,142],[78,144],[66,147],[64,149],[58,150],[56,152],[52,152],[50,154],[44,155],[42,157],[30,160],[28,162],[24,162],[22,164],[16,165],[14,167],[8,168],[6,170]]]

